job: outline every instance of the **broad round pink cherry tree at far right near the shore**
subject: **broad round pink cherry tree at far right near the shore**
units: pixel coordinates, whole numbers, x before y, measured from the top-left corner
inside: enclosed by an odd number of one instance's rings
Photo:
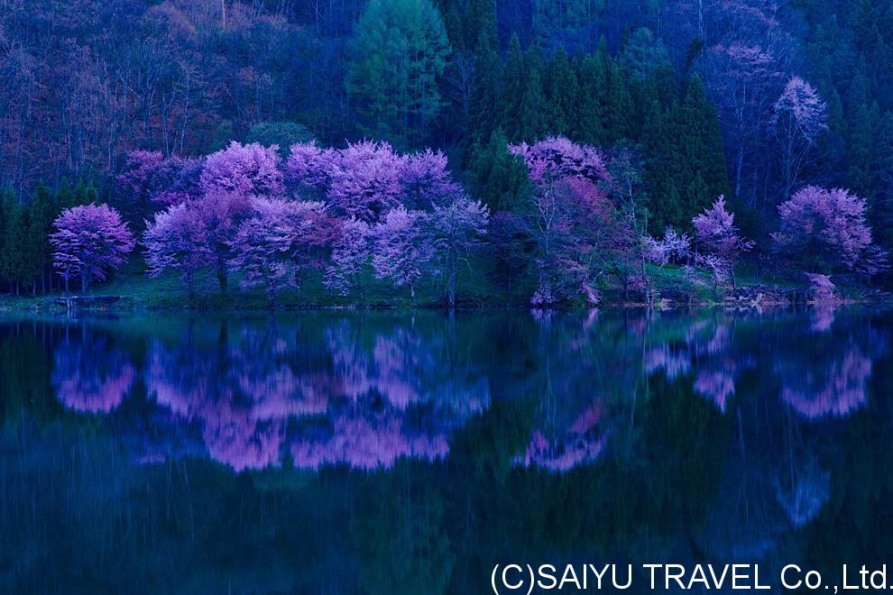
[[[865,199],[844,188],[801,188],[778,206],[780,229],[773,234],[778,249],[808,270],[886,268],[884,254],[871,242]]]

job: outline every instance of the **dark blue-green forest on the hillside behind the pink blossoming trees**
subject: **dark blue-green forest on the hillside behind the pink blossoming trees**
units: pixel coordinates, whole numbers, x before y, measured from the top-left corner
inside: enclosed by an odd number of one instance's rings
[[[127,151],[232,140],[435,146],[511,212],[524,177],[499,144],[560,134],[632,147],[652,233],[725,194],[768,238],[813,183],[866,197],[889,249],[891,58],[893,7],[868,0],[0,0],[3,243],[44,230],[59,207],[32,203],[64,179],[115,203]],[[794,77],[827,114],[796,185],[773,118]],[[44,242],[5,250],[5,287],[49,281]]]

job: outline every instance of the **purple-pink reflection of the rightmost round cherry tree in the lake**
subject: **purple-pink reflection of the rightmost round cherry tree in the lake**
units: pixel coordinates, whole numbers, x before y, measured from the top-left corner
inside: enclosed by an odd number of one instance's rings
[[[844,417],[865,405],[871,360],[851,344],[842,358],[805,374],[783,374],[781,399],[807,419]]]

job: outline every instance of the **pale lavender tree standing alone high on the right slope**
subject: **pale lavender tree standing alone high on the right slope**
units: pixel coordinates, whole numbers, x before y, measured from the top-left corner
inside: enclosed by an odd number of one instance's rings
[[[788,80],[769,120],[780,145],[785,199],[796,187],[819,135],[828,129],[826,121],[827,106],[815,87],[803,78]]]

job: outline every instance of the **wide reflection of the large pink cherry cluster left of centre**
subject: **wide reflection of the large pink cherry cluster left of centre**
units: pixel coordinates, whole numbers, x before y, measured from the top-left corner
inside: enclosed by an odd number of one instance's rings
[[[310,343],[284,330],[246,325],[212,346],[152,343],[148,392],[201,426],[208,454],[235,471],[279,465],[285,453],[306,469],[431,461],[446,455],[457,423],[489,405],[485,380],[446,365],[439,334],[395,326],[370,336],[345,321],[320,329],[313,349],[324,347],[308,366]]]

